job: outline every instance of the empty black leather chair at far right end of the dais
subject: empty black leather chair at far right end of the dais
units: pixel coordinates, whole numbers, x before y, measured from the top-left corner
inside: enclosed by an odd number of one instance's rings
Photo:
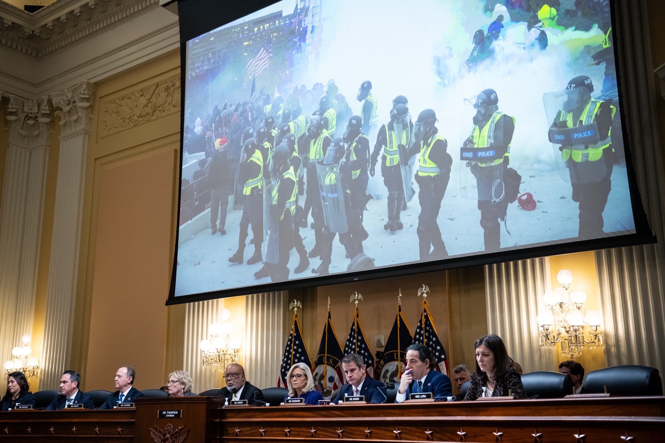
[[[648,366],[624,365],[591,371],[584,379],[582,394],[662,395],[658,369]]]

